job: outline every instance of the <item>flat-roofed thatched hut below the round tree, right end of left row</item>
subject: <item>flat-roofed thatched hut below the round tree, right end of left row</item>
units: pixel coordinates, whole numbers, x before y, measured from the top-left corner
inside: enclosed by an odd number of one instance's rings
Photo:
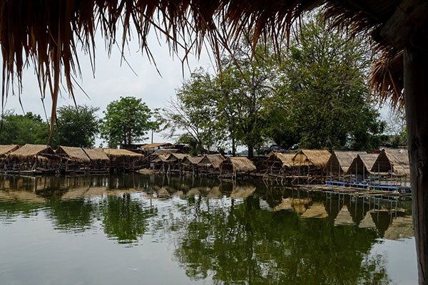
[[[118,150],[115,148],[103,148],[110,159],[110,171],[128,172],[140,170],[143,167],[144,155],[130,150]]]

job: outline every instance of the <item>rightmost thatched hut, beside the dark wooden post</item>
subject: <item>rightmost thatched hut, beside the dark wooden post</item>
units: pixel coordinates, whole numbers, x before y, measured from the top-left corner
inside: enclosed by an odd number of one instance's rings
[[[372,172],[391,172],[392,175],[409,176],[409,154],[407,150],[382,150],[374,162]]]

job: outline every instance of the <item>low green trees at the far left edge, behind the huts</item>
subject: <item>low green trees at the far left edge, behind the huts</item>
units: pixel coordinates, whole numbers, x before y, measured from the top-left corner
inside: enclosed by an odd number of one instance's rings
[[[40,115],[31,112],[17,115],[13,110],[6,111],[1,118],[0,144],[25,145],[26,143],[47,144],[49,125]],[[51,141],[56,145],[55,141]]]

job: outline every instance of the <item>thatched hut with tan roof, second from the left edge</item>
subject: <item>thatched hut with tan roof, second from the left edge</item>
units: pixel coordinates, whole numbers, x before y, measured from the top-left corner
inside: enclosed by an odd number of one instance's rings
[[[7,171],[30,173],[56,173],[60,160],[49,145],[30,145],[10,152],[7,157]]]

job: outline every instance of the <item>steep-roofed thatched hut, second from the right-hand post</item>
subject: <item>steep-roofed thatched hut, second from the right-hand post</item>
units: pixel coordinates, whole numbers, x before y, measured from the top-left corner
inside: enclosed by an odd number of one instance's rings
[[[353,177],[354,182],[370,182],[373,177],[372,167],[377,159],[377,153],[360,154],[352,160],[350,167],[346,172],[347,175]]]

